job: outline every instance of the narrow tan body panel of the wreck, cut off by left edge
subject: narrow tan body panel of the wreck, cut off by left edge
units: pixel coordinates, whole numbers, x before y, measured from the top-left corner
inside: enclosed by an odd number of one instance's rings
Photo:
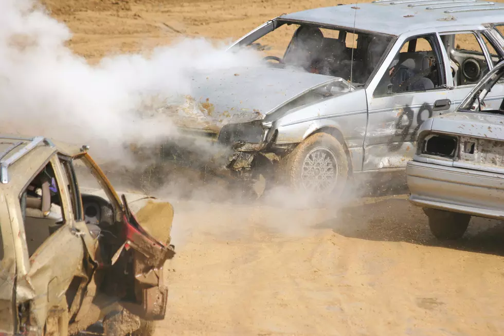
[[[0,334],[16,332],[15,254],[8,204],[0,191]]]

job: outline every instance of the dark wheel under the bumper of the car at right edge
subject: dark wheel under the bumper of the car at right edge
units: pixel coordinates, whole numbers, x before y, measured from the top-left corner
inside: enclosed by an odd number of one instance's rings
[[[430,232],[439,240],[462,238],[471,220],[470,215],[451,211],[426,208],[424,212],[429,217]]]

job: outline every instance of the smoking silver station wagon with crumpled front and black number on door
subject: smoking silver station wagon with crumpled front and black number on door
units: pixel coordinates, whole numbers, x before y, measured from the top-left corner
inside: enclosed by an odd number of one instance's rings
[[[229,49],[259,48],[269,66],[195,79],[189,110],[204,118],[179,113],[177,125],[229,148],[232,173],[303,192],[404,171],[422,123],[455,111],[504,55],[502,13],[504,4],[475,0],[377,0],[281,15]]]

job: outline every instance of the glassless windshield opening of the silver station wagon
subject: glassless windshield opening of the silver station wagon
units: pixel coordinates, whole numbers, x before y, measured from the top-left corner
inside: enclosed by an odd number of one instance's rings
[[[274,26],[248,43],[271,66],[340,77],[355,85],[368,81],[392,41],[381,34],[315,24],[277,21]]]

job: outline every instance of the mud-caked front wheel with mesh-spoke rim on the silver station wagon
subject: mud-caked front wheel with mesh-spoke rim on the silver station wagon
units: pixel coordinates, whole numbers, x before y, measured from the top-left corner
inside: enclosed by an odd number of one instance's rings
[[[286,175],[297,191],[337,196],[348,179],[347,155],[335,137],[316,133],[286,157]]]

